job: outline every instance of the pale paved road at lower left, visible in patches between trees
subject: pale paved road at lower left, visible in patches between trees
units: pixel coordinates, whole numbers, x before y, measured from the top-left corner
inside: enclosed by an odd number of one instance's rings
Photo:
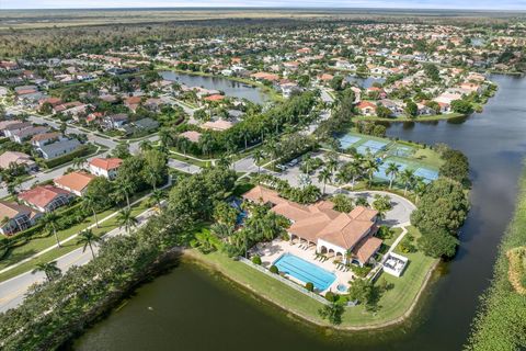
[[[139,222],[138,226],[141,226],[146,223],[148,217],[150,217],[155,213],[153,210],[147,210],[140,215],[137,216],[137,220]],[[112,237],[116,235],[124,234],[124,228],[119,229],[116,228],[104,236]],[[96,244],[94,245],[95,254],[99,251]],[[73,265],[82,265],[88,263],[92,259],[92,254],[90,249],[87,249],[82,252],[82,248],[76,249],[65,256],[58,258],[57,265],[60,270],[65,271]],[[25,292],[27,288],[35,284],[43,282],[45,280],[45,275],[42,272],[32,274],[31,272],[26,272],[20,274],[11,280],[4,281],[0,283],[0,312],[5,312],[10,308],[14,308],[22,301],[24,299]]]

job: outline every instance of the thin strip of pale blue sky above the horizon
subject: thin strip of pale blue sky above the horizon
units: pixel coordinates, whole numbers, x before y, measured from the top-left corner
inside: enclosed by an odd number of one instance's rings
[[[179,7],[526,10],[526,0],[0,0],[1,10]]]

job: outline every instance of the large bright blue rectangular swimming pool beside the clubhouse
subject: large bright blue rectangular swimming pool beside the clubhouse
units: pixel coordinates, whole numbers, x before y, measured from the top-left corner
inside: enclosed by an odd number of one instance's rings
[[[319,291],[327,290],[336,279],[333,273],[291,253],[281,256],[274,261],[274,265],[277,267],[279,272],[294,276],[304,283],[312,283]]]

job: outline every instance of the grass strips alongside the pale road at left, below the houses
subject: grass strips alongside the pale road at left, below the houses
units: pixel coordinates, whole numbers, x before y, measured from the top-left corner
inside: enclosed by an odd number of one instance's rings
[[[141,201],[140,203],[136,204],[135,206],[132,206],[132,214],[134,216],[137,216],[139,214],[141,214],[142,212],[145,212],[146,210],[148,208],[148,199],[145,199],[144,201]],[[115,212],[115,208],[112,208],[112,210],[108,210],[108,211],[105,211],[103,213],[100,213],[98,215],[98,218],[99,220],[108,216],[110,214],[112,214],[113,212]],[[90,216],[88,218],[85,218],[85,220],[81,224],[78,224],[71,228],[68,228],[66,230],[60,230],[58,231],[58,237],[60,238],[60,240],[64,240],[77,233],[79,233],[80,230],[87,228],[88,226],[92,225],[94,223],[93,220],[93,216]],[[118,227],[118,223],[117,223],[117,216],[114,216],[103,223],[100,224],[100,228],[93,228],[93,234],[98,235],[98,236],[101,236],[101,235],[104,235],[105,233],[108,233],[115,228]],[[45,253],[45,254],[42,254],[39,256],[38,258],[35,258],[28,262],[25,262],[8,272],[4,272],[2,274],[0,274],[0,282],[1,281],[5,281],[8,279],[11,279],[13,276],[16,276],[19,274],[22,274],[24,272],[27,272],[27,271],[31,271],[33,270],[36,264],[41,263],[41,262],[49,262],[49,261],[53,261],[77,248],[79,248],[81,245],[77,245],[77,239],[72,239],[66,244],[62,245],[61,248],[55,248],[53,250],[50,250],[49,252]],[[20,247],[20,248],[15,248],[11,251],[11,253],[8,256],[7,259],[2,260],[0,262],[0,269],[3,269],[10,264],[13,264],[13,263],[16,263],[32,254],[35,254],[37,253],[38,251],[42,251],[48,247],[52,247],[56,244],[55,241],[55,236],[50,235],[49,237],[46,237],[46,238],[42,238],[42,239],[34,239],[34,240],[31,240],[30,242],[27,242],[26,245]]]

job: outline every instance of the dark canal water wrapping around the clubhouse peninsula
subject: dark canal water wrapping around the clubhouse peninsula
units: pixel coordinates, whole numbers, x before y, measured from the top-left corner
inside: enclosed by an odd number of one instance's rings
[[[446,143],[471,163],[471,204],[460,249],[441,264],[410,322],[382,331],[339,333],[307,326],[182,263],[140,287],[122,308],[76,340],[76,350],[460,350],[496,247],[512,216],[526,155],[526,79],[495,76],[484,112],[435,123],[393,124],[388,135]]]

